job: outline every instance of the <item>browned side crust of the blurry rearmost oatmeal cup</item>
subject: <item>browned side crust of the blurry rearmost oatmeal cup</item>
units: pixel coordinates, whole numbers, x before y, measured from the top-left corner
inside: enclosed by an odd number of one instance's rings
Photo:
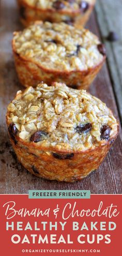
[[[41,9],[35,6],[28,5],[25,1],[18,0],[20,8],[20,18],[24,26],[33,24],[36,20],[60,22],[60,21],[73,21],[76,26],[84,26],[88,21],[91,11],[95,6],[95,2],[89,5],[88,10],[82,13],[80,9],[74,10],[55,10],[55,9]]]

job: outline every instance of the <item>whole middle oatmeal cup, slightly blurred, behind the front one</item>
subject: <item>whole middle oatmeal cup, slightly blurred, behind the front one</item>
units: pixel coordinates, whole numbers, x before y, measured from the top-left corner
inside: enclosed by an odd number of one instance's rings
[[[25,87],[56,81],[86,89],[106,57],[97,36],[64,22],[39,21],[23,32],[15,32],[12,48],[18,76]]]

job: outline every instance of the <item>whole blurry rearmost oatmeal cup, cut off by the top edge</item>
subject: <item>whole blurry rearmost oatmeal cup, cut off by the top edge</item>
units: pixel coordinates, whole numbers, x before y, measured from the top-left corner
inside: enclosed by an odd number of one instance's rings
[[[31,25],[36,20],[84,25],[96,0],[18,0],[21,22]]]

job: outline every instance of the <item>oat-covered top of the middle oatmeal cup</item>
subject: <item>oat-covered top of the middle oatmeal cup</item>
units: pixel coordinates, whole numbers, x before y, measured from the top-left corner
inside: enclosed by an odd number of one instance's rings
[[[46,70],[87,70],[100,64],[105,55],[97,36],[64,22],[37,22],[15,33],[13,40],[14,51]]]

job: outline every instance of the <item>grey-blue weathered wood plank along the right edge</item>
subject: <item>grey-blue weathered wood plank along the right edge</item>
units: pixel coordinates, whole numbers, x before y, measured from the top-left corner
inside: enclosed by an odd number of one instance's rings
[[[122,1],[97,0],[96,13],[102,39],[108,52],[108,65],[112,80],[113,90],[122,122]],[[115,31],[119,40],[107,41],[105,38],[111,31]]]

